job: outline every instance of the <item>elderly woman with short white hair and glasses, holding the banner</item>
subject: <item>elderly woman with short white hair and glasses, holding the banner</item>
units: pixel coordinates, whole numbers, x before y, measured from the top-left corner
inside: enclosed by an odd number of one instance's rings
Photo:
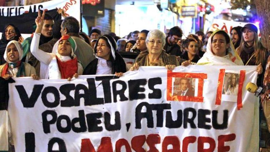
[[[168,70],[172,70],[179,66],[176,56],[163,51],[165,37],[165,34],[160,30],[151,30],[146,37],[147,51],[138,55],[130,70],[136,70],[140,66],[165,66]]]

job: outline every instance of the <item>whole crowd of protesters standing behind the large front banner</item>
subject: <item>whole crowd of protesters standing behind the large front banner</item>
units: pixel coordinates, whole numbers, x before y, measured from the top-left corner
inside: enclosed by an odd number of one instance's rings
[[[115,74],[122,76],[140,66],[256,65],[257,85],[269,84],[268,50],[259,41],[253,24],[236,26],[230,36],[223,30],[197,31],[183,38],[178,26],[164,32],[141,30],[125,37],[115,33],[102,35],[92,29],[89,36],[79,33],[79,22],[66,17],[57,22],[45,11],[35,20],[36,30],[25,40],[16,26],[7,24],[0,40],[0,74],[10,77],[31,76],[33,79],[67,79],[79,75]],[[121,53],[137,53],[133,64],[125,63]],[[265,76],[264,76],[265,73]],[[263,83],[263,76],[265,77]],[[266,94],[265,94],[266,95]],[[265,99],[265,95],[262,99]]]

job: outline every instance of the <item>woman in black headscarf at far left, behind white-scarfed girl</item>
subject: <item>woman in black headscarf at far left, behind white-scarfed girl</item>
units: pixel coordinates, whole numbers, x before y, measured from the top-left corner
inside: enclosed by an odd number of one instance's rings
[[[15,25],[7,24],[4,27],[2,38],[0,40],[0,65],[6,63],[6,60],[4,59],[6,45],[12,40],[19,41],[21,43],[24,39],[21,37],[20,31]]]

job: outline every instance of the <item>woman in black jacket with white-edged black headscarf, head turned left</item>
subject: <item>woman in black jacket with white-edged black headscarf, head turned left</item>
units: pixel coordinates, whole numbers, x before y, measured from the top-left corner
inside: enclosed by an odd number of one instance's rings
[[[98,38],[94,51],[96,59],[91,61],[83,71],[83,75],[116,74],[126,72],[125,61],[117,50],[117,44],[110,35]]]

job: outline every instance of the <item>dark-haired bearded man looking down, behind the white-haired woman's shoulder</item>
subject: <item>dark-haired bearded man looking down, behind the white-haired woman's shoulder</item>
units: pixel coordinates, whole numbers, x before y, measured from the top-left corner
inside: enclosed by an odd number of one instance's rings
[[[165,46],[163,49],[170,55],[180,56],[182,54],[181,47],[177,45],[181,41],[183,35],[182,29],[175,26],[170,29],[169,36],[165,39]]]

